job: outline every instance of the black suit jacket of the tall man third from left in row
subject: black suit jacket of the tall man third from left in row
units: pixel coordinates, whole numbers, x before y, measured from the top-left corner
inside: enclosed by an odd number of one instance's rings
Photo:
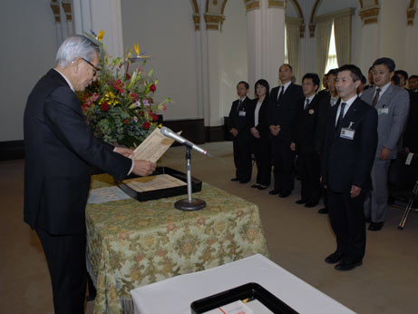
[[[280,103],[277,103],[279,86],[273,88],[268,99],[268,126],[280,125],[277,140],[290,142],[296,119],[296,102],[304,98],[302,87],[290,83],[283,93]]]

